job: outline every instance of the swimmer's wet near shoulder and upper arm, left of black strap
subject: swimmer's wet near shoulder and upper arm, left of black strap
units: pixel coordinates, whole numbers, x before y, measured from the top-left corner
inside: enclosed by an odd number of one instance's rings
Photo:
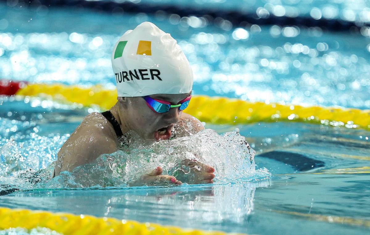
[[[117,150],[117,141],[107,137],[101,129],[79,127],[58,152],[55,176],[61,171],[73,171],[80,165],[91,163],[101,154],[110,154]]]

